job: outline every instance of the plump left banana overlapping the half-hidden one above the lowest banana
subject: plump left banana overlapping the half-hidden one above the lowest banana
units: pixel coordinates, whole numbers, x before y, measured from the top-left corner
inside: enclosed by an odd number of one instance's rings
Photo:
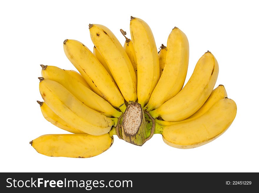
[[[45,103],[69,125],[90,135],[103,135],[117,125],[118,118],[107,118],[75,98],[61,84],[39,77],[39,90]]]

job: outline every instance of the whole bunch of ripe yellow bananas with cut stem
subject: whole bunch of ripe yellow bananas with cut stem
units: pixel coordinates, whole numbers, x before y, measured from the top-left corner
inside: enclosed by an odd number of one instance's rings
[[[237,107],[223,85],[214,88],[219,66],[207,51],[183,87],[188,62],[186,35],[173,28],[167,46],[157,46],[150,27],[131,17],[124,47],[105,26],[89,24],[93,53],[65,40],[64,51],[77,68],[41,65],[37,101],[46,120],[73,134],[42,135],[30,144],[54,157],[92,157],[109,149],[113,135],[143,145],[153,134],[177,148],[204,145],[223,134]]]

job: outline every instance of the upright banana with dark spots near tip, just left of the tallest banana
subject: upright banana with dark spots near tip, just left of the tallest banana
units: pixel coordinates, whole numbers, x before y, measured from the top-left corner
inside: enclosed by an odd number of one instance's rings
[[[137,77],[119,40],[105,26],[89,24],[92,42],[106,61],[119,90],[128,102],[137,100]]]

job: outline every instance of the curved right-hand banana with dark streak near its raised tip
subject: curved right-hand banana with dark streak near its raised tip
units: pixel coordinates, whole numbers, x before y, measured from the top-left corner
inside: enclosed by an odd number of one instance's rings
[[[197,62],[185,87],[159,108],[150,111],[150,115],[153,118],[161,116],[165,121],[181,121],[190,117],[210,96],[218,78],[218,71],[216,58],[207,51]]]

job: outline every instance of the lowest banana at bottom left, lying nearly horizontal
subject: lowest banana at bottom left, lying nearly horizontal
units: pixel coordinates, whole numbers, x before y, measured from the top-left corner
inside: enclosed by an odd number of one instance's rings
[[[113,143],[109,134],[100,136],[88,134],[42,135],[30,142],[40,154],[52,157],[87,158],[108,150]]]

